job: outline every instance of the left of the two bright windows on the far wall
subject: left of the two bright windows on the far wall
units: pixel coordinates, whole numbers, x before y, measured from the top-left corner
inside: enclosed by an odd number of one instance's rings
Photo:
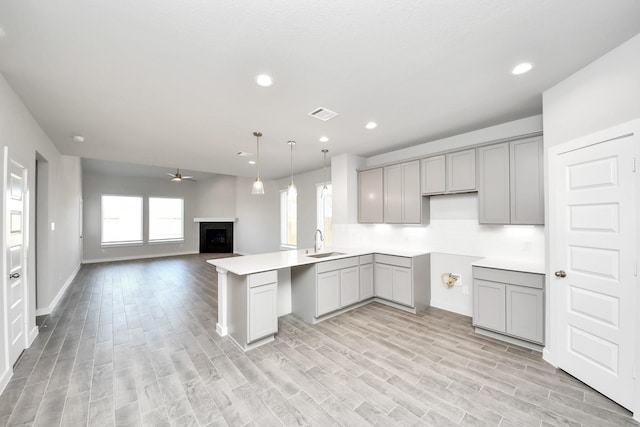
[[[102,195],[102,245],[142,243],[142,197]]]

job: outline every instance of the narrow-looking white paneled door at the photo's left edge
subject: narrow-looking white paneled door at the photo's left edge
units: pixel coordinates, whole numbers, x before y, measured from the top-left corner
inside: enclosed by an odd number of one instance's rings
[[[25,266],[25,226],[27,170],[8,158],[5,148],[6,166],[6,215],[5,233],[7,257],[7,313],[9,333],[9,362],[13,365],[27,347],[27,281]]]

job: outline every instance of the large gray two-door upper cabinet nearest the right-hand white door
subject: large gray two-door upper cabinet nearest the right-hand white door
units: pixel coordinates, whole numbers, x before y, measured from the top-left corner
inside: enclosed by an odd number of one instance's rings
[[[544,224],[542,139],[478,149],[481,224]]]

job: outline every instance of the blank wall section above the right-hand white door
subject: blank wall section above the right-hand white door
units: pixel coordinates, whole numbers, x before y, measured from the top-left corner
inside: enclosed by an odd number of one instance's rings
[[[640,35],[542,96],[544,144],[570,141],[640,117]]]

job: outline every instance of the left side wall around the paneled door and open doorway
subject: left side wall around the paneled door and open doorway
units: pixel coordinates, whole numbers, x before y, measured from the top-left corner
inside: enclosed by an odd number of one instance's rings
[[[82,258],[80,240],[80,200],[81,175],[80,160],[62,156],[51,140],[40,129],[22,101],[0,74],[0,141],[8,147],[9,156],[27,168],[28,209],[29,209],[29,248],[27,255],[25,280],[28,285],[28,332],[30,340],[35,338],[36,315],[36,152],[48,162],[47,173],[40,176],[48,188],[46,209],[42,209],[47,218],[44,224],[55,223],[55,231],[50,227],[38,230],[48,240],[46,259],[37,280],[38,308],[46,310],[61,295],[61,291],[75,276]],[[4,198],[0,198],[1,215],[6,215]],[[4,230],[1,231],[4,233]],[[1,238],[4,241],[4,234]],[[3,270],[6,261],[2,256]],[[6,270],[4,270],[6,271]],[[2,276],[2,287],[6,288],[6,277]],[[0,293],[0,390],[11,375],[11,366],[6,358],[7,325],[5,324],[6,301]]]

